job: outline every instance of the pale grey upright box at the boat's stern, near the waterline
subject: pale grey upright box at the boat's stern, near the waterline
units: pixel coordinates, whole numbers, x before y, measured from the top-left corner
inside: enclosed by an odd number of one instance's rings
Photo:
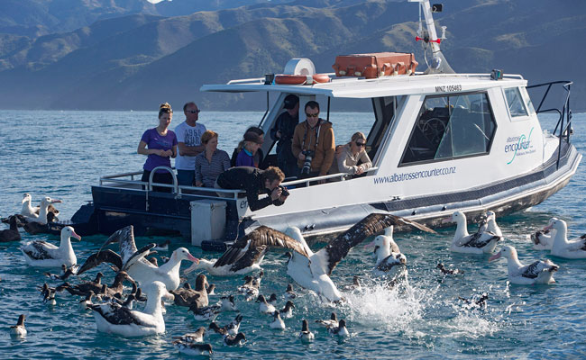
[[[189,202],[191,209],[191,245],[201,246],[204,240],[224,238],[226,202],[206,199]]]

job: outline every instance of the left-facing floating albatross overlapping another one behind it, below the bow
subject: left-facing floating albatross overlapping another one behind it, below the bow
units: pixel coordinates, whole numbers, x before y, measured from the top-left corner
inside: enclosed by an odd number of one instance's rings
[[[455,222],[456,232],[453,235],[450,251],[463,254],[490,254],[497,247],[502,236],[492,233],[488,230],[476,232],[472,235],[468,233],[466,225],[466,215],[462,211],[453,212],[452,216],[445,219],[444,222]]]

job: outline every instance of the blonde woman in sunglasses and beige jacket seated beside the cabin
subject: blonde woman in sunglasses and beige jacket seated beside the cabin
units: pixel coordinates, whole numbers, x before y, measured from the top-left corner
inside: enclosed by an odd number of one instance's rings
[[[357,165],[359,162],[362,164]],[[362,175],[371,167],[371,158],[366,153],[366,137],[359,131],[353,134],[349,143],[339,148],[339,153],[336,151],[334,164],[329,173]]]

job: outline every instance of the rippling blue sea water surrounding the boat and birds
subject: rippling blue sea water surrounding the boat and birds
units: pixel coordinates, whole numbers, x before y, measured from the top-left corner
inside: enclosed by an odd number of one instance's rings
[[[90,185],[100,175],[140,171],[145,157],[136,147],[147,128],[157,124],[155,112],[23,112],[5,111],[0,127],[0,216],[20,211],[23,193],[63,200],[61,219],[71,215],[91,200]],[[179,112],[171,124],[182,121]],[[219,148],[232,152],[247,126],[258,123],[261,112],[202,112],[200,121],[220,134]],[[586,114],[574,114],[574,145],[584,153]],[[337,143],[350,138],[355,130],[368,132],[371,115],[333,113]],[[542,117],[544,129],[554,129],[553,117]],[[243,313],[242,331],[248,342],[243,347],[224,347],[222,339],[206,334],[217,358],[579,358],[586,356],[586,260],[564,260],[531,248],[527,235],[545,226],[552,216],[568,221],[569,235],[586,232],[581,205],[586,194],[584,166],[570,184],[545,202],[528,211],[499,219],[506,243],[517,247],[519,259],[528,263],[536,258],[551,258],[560,266],[557,281],[548,286],[517,286],[507,283],[504,261],[488,263],[488,257],[464,256],[448,251],[453,229],[438,235],[397,234],[396,240],[408,261],[409,286],[389,291],[371,279],[373,258],[356,247],[334,270],[333,280],[340,288],[351,284],[353,275],[364,279],[361,293],[344,293],[348,302],[324,304],[315,295],[295,285],[300,295],[295,301],[295,316],[285,320],[285,331],[269,328],[271,318],[260,315],[258,304],[237,298]],[[4,229],[4,228],[3,228]],[[21,243],[45,239],[49,235],[23,233]],[[139,246],[164,238],[137,238]],[[218,257],[203,253],[180,238],[175,247],[184,246],[196,257]],[[92,236],[75,242],[78,261],[83,261],[105,241]],[[174,336],[207,326],[193,319],[185,308],[168,306],[165,315],[167,332],[160,337],[120,338],[98,333],[93,315],[78,310],[78,299],[61,293],[57,305],[42,304],[36,286],[44,282],[54,286],[42,273],[44,269],[26,266],[16,243],[0,244],[0,356],[10,358],[176,358],[171,346]],[[323,244],[317,244],[320,247]],[[161,254],[167,256],[168,254]],[[269,253],[262,263],[265,278],[261,293],[284,292],[292,282],[286,275],[283,254]],[[464,271],[463,275],[443,277],[435,270],[438,262]],[[184,264],[182,268],[186,268]],[[105,268],[105,282],[113,272]],[[97,271],[97,269],[96,269]],[[93,277],[96,271],[87,275]],[[86,278],[86,275],[84,275]],[[193,284],[195,275],[189,275]],[[71,280],[72,282],[77,279]],[[242,276],[209,276],[216,284],[215,298],[232,293]],[[486,310],[469,310],[458,296],[470,298],[488,293]],[[279,307],[285,301],[279,297]],[[314,320],[329,317],[336,311],[346,319],[352,337],[339,341],[318,329]],[[18,315],[27,315],[28,336],[11,338],[8,328]],[[234,313],[222,313],[217,322],[225,324]],[[297,334],[302,319],[309,320],[316,341],[303,345]]]

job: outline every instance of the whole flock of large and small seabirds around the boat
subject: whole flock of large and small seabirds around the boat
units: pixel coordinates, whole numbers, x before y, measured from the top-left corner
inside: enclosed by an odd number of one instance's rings
[[[0,231],[0,242],[20,241],[22,238],[19,228],[32,234],[55,231],[55,227],[50,224],[59,224],[59,211],[52,204],[60,201],[44,197],[38,207],[32,207],[31,202],[32,196],[24,194],[22,211],[2,219],[9,224],[9,229]],[[479,229],[472,234],[468,232],[466,215],[462,211],[453,212],[444,222],[456,224],[453,240],[449,245],[453,252],[470,255],[493,254],[504,239],[493,211],[483,214]],[[246,335],[240,331],[240,325],[246,316],[257,317],[258,314],[244,315],[237,309],[238,301],[257,302],[258,311],[267,316],[270,329],[287,329],[285,320],[293,317],[295,301],[299,295],[293,284],[288,284],[279,297],[275,293],[261,293],[264,275],[261,262],[270,249],[287,251],[287,274],[298,285],[315,292],[324,302],[344,302],[343,294],[330,275],[353,247],[376,234],[380,233],[364,246],[372,248],[375,257],[372,275],[384,279],[391,287],[406,278],[407,257],[401,253],[393,239],[393,229],[399,225],[409,225],[435,233],[433,229],[416,221],[391,214],[372,213],[316,252],[307,245],[297,228],[280,232],[261,226],[243,238],[238,238],[217,259],[198,259],[187,248],[178,247],[169,257],[160,257],[164,263],[159,265],[153,255],[169,251],[170,241],[138,248],[134,242],[133,227],[128,226],[115,231],[83,264],[78,264],[71,238],[79,241],[81,237],[72,227],[61,225],[59,247],[47,241],[33,240],[22,244],[21,251],[29,266],[60,269],[60,274],[52,274],[50,271],[44,273],[48,280],[58,284],[50,286],[45,283],[38,286],[42,302],[54,305],[58,293],[78,296],[79,308],[93,312],[98,331],[123,337],[162,334],[165,332],[165,307],[186,308],[186,311],[193,313],[194,320],[209,321],[209,325],[173,338],[172,345],[179,352],[188,355],[209,356],[213,354],[213,347],[204,342],[206,332],[219,334],[225,346],[238,346],[247,341]],[[548,250],[554,257],[586,258],[586,235],[568,240],[567,224],[564,220],[552,218],[544,229],[536,231],[530,238],[535,249]],[[118,252],[107,248],[114,243],[118,244]],[[518,260],[517,249],[512,246],[500,247],[499,251],[489,257],[489,261],[499,258],[507,260],[508,281],[511,284],[553,284],[554,273],[559,269],[549,259],[536,260],[524,266]],[[192,263],[184,274],[198,272],[194,287],[179,275],[183,260]],[[102,283],[102,272],[98,272],[93,280],[81,280],[80,275],[98,266],[105,269],[102,271],[114,272],[112,284]],[[446,267],[441,263],[436,268],[443,275],[463,274],[462,270]],[[213,303],[210,298],[215,295],[215,284],[208,284],[204,273],[215,276],[244,275],[243,284],[234,293],[222,296],[218,302]],[[72,281],[74,278],[78,279],[77,284]],[[124,287],[124,284],[129,286]],[[128,288],[132,290],[125,291]],[[346,286],[345,290],[361,291],[361,288],[360,277],[355,275],[353,284]],[[286,301],[282,309],[277,305],[279,298]],[[488,294],[481,293],[472,299],[460,299],[469,306],[483,307],[486,306]],[[221,312],[233,312],[236,315],[231,322],[222,325],[215,322]],[[26,336],[25,319],[26,315],[21,314],[16,325],[10,327],[13,336]],[[315,324],[324,327],[333,337],[351,336],[346,320],[338,320],[334,311],[330,319],[315,320]],[[301,321],[298,338],[302,342],[314,341],[315,335],[309,328],[307,319]]]

